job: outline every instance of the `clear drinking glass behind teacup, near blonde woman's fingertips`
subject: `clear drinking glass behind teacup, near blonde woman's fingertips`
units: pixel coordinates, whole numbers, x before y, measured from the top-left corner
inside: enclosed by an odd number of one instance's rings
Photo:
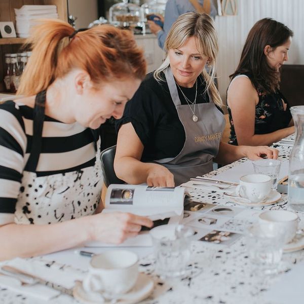
[[[273,159],[263,159],[252,162],[252,165],[255,173],[270,176],[272,178],[272,189],[277,190],[281,162]]]

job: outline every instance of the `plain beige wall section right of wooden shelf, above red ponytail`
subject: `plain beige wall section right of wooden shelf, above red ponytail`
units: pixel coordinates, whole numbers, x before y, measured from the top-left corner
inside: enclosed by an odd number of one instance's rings
[[[98,18],[97,0],[68,0],[68,15],[77,17],[75,28],[86,28]]]

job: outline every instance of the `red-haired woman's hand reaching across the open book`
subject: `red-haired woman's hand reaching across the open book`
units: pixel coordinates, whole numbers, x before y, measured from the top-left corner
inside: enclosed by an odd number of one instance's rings
[[[137,236],[141,226],[153,226],[153,221],[147,217],[123,212],[100,213],[87,219],[92,220],[91,240],[112,244]]]

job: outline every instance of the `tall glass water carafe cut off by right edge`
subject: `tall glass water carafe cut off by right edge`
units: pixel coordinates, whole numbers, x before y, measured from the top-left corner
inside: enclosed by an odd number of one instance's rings
[[[295,141],[289,160],[288,205],[304,211],[304,105],[290,108],[295,126]]]

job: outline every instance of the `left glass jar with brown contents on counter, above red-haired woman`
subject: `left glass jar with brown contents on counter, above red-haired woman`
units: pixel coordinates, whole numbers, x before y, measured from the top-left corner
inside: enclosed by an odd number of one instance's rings
[[[109,21],[119,28],[130,29],[135,34],[145,34],[143,11],[139,6],[128,3],[128,0],[110,7]]]

